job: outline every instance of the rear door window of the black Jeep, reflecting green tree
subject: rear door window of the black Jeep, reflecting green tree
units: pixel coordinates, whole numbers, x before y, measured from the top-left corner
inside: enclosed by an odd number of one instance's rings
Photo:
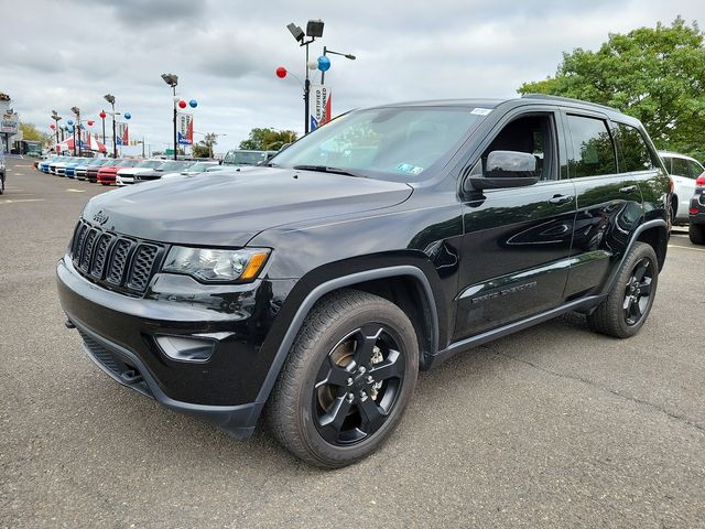
[[[570,115],[567,120],[573,143],[573,155],[568,161],[571,177],[616,173],[615,144],[607,123],[601,119]]]

